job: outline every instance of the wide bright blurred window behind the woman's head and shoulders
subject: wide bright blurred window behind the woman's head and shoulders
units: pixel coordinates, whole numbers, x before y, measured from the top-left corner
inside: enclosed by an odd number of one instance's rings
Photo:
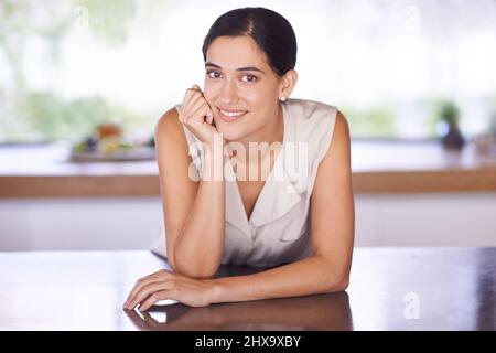
[[[103,121],[151,133],[202,86],[213,21],[260,4],[296,32],[293,96],[336,105],[353,137],[434,137],[445,100],[459,105],[464,133],[489,129],[494,1],[1,0],[0,141],[75,141]]]

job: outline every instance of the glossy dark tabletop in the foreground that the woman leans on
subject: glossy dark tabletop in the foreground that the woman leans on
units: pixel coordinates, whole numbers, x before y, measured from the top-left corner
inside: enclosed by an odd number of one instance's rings
[[[2,330],[496,330],[496,248],[356,248],[346,292],[122,310],[145,250],[0,253]],[[224,266],[217,276],[258,269]],[[283,313],[283,314],[281,314]]]

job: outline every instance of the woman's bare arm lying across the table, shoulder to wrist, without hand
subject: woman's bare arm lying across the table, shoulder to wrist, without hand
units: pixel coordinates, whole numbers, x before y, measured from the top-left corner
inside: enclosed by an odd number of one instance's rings
[[[245,301],[341,291],[347,288],[354,243],[349,132],[341,113],[319,167],[312,194],[314,255],[248,276],[213,279],[212,302]]]

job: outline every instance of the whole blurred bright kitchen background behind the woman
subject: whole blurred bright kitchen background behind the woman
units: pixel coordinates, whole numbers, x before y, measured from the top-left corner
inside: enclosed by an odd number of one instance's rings
[[[0,0],[0,250],[148,248],[154,125],[246,6],[292,23],[292,96],[348,119],[357,246],[496,246],[494,0]]]

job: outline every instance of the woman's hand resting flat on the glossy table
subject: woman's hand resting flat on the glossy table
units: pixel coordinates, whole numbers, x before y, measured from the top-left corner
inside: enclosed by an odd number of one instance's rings
[[[148,310],[160,300],[173,299],[190,307],[206,307],[212,302],[213,282],[208,279],[192,279],[161,269],[140,278],[126,300],[123,308]]]

